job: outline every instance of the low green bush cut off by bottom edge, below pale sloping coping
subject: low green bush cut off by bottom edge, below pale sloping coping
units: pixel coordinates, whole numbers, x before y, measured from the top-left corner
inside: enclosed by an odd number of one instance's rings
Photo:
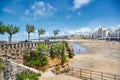
[[[21,72],[20,74],[17,74],[17,80],[38,80],[40,74],[34,73],[34,72]]]

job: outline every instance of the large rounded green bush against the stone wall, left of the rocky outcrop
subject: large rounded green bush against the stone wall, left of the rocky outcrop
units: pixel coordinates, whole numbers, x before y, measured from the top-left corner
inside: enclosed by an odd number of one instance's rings
[[[41,67],[49,62],[48,56],[45,53],[49,51],[49,48],[45,44],[39,44],[35,51],[27,52],[23,55],[24,64],[29,67]]]

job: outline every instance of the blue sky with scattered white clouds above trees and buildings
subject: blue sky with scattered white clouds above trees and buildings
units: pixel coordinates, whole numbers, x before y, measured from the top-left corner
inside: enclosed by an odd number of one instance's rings
[[[16,25],[20,32],[13,40],[26,40],[26,24],[36,30],[31,39],[37,39],[37,29],[45,29],[44,36],[88,34],[100,26],[120,26],[120,0],[0,0],[0,21],[5,25]],[[8,34],[0,35],[7,40]]]

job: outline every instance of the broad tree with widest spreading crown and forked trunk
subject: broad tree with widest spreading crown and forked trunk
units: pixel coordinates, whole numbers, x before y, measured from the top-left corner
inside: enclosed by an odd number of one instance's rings
[[[9,34],[8,41],[11,42],[12,41],[12,35],[19,32],[20,28],[17,27],[17,26],[13,26],[13,25],[7,25],[5,30]]]

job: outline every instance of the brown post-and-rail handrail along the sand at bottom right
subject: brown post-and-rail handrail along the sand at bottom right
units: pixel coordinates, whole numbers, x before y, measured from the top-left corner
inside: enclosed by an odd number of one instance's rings
[[[90,80],[120,80],[120,75],[93,71],[78,67],[71,67],[71,75]]]

